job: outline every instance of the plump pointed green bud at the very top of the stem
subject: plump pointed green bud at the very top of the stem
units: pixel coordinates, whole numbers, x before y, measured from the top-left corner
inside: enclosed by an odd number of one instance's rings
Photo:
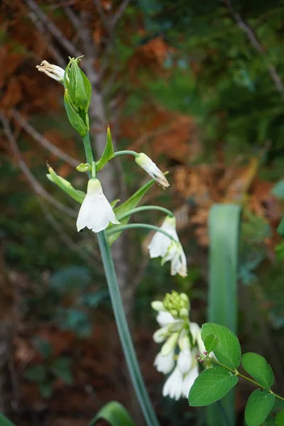
[[[80,69],[79,58],[70,60],[67,67],[67,79],[65,79],[65,88],[68,89],[69,97],[76,111],[84,111],[87,114],[89,102],[92,97],[92,86],[84,72]]]

